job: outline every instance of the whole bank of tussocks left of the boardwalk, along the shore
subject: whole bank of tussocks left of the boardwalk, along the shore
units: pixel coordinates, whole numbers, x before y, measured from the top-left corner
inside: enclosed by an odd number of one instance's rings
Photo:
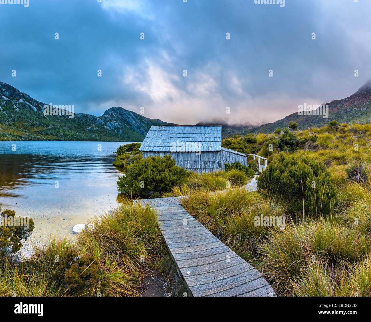
[[[0,295],[133,296],[166,252],[150,207],[121,206],[95,218],[77,243],[51,239],[20,265],[0,265]]]

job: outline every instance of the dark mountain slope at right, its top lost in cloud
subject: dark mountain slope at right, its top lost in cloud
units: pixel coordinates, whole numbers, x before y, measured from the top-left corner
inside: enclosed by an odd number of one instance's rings
[[[348,124],[371,123],[371,80],[366,82],[353,95],[324,105],[329,106],[328,118],[323,118],[322,115],[298,115],[296,112],[274,123],[248,129],[242,134],[271,133],[277,128],[287,127],[290,122],[298,123],[298,129],[320,127],[332,120]]]

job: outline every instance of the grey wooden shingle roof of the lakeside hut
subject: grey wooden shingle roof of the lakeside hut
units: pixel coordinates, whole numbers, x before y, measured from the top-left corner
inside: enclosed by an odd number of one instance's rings
[[[184,151],[221,151],[221,126],[181,125],[151,126],[139,151],[174,152],[174,147]],[[189,149],[189,150],[188,150]]]

